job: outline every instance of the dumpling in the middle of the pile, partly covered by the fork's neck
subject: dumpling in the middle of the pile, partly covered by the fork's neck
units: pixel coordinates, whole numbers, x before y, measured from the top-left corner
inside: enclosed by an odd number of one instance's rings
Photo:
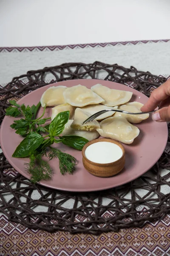
[[[81,109],[88,112],[90,115],[93,115],[93,114],[95,114],[99,111],[105,110],[105,109],[116,109],[116,108],[118,108],[118,106],[107,107],[105,105],[96,104],[96,105],[88,105],[88,106],[82,107]],[[115,111],[108,111],[100,116],[97,116],[96,120],[102,120],[109,116],[113,116],[114,113],[115,113]]]

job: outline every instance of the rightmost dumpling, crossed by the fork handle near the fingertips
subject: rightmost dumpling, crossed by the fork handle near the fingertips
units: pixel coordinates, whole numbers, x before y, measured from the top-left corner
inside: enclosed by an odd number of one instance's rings
[[[132,112],[132,113],[138,113],[138,112],[141,112],[142,106],[143,104],[140,102],[128,102],[125,105],[120,106],[119,109]],[[131,114],[116,112],[114,116],[122,116],[122,117],[125,117],[128,122],[138,124],[139,122],[142,122],[143,120],[147,119],[149,117],[149,114],[131,115]]]

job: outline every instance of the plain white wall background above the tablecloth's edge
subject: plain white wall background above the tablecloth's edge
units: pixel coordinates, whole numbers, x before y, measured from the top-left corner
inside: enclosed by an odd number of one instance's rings
[[[170,39],[170,0],[0,0],[0,47]]]

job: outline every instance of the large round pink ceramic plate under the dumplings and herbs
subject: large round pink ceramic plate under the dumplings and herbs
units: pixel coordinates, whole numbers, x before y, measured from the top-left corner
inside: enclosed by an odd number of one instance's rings
[[[91,86],[97,83],[101,83],[105,86],[108,86],[109,88],[133,92],[131,101],[137,101],[141,103],[147,102],[147,96],[144,96],[137,90],[134,90],[125,85],[110,81],[80,79],[63,81],[39,88],[24,96],[18,101],[18,103],[25,103],[26,105],[37,105],[37,103],[40,101],[42,93],[51,86],[65,85],[67,87],[71,87],[77,84],[82,84],[88,88],[91,88]],[[41,113],[42,108],[38,114],[40,115]],[[50,114],[51,108],[47,108],[45,116],[49,117]],[[18,134],[15,134],[15,131],[10,128],[13,120],[14,118],[10,116],[6,116],[3,120],[0,131],[1,146],[3,153],[5,154],[9,163],[14,167],[14,169],[29,179],[30,175],[24,169],[24,163],[28,163],[28,159],[12,157],[15,148],[23,139]],[[60,149],[65,149],[68,154],[72,154],[79,161],[76,171],[73,175],[66,174],[62,176],[59,172],[58,161],[54,159],[50,162],[51,168],[53,169],[53,176],[51,180],[42,180],[40,184],[65,191],[86,192],[113,188],[141,176],[156,163],[159,157],[161,157],[161,154],[163,153],[167,143],[167,124],[154,122],[150,116],[149,119],[136,126],[140,129],[140,134],[134,140],[133,144],[124,144],[126,151],[125,168],[118,175],[108,178],[95,177],[91,175],[83,167],[82,152],[59,143],[57,144],[57,147]]]

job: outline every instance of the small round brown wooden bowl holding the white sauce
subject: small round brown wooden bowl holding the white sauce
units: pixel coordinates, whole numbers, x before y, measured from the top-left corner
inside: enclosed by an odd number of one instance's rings
[[[102,141],[111,142],[118,145],[122,149],[122,153],[123,153],[122,157],[120,157],[118,160],[112,163],[95,163],[95,162],[92,162],[91,160],[88,160],[87,157],[85,156],[86,148],[93,143],[102,142]],[[88,143],[86,143],[82,148],[82,163],[85,169],[94,176],[111,177],[113,175],[116,175],[120,171],[122,171],[125,165],[125,148],[121,143],[112,139],[103,138],[103,139],[91,140]]]

